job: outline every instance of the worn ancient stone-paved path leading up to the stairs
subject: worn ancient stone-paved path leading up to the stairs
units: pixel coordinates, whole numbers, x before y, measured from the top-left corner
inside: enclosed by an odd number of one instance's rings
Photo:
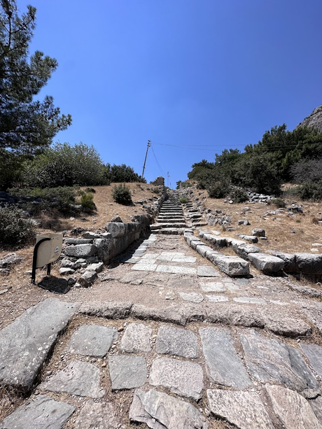
[[[151,235],[97,282],[113,270],[166,305],[51,298],[25,311],[0,331],[0,380],[27,396],[0,429],[322,428],[314,291],[231,279],[174,235]]]

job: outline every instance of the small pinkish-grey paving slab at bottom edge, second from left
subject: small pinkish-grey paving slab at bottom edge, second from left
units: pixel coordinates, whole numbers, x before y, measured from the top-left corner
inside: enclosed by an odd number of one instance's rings
[[[121,423],[111,402],[87,400],[76,419],[74,429],[119,429]]]

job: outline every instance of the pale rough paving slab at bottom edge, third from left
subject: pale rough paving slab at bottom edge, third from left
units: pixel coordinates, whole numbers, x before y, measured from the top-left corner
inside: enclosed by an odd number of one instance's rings
[[[130,421],[152,429],[208,429],[209,424],[193,405],[158,391],[134,392]]]

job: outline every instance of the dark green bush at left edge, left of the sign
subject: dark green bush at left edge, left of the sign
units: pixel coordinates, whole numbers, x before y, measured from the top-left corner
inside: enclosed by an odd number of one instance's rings
[[[16,206],[0,207],[0,245],[2,248],[19,248],[33,243],[36,238],[34,225],[21,218]]]

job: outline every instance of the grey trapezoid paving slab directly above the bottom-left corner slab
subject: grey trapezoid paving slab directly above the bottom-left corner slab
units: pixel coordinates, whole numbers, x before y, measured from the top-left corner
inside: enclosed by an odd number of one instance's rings
[[[64,370],[54,374],[41,388],[50,392],[64,392],[71,395],[102,398],[104,391],[99,387],[100,371],[91,363],[72,360]]]

